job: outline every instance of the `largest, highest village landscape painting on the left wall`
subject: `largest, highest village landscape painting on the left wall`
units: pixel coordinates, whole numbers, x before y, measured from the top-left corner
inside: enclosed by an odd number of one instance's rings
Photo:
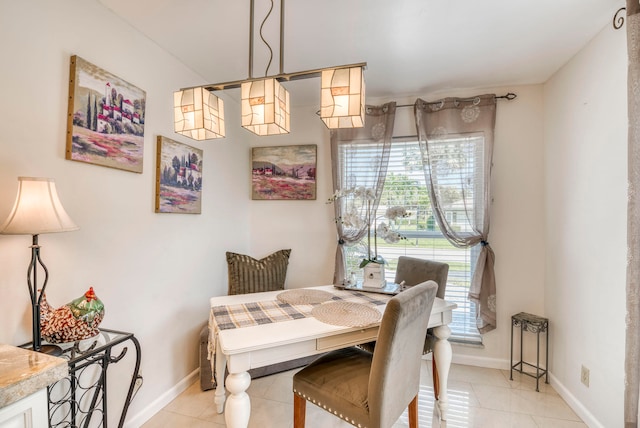
[[[146,92],[74,55],[66,158],[142,173]]]

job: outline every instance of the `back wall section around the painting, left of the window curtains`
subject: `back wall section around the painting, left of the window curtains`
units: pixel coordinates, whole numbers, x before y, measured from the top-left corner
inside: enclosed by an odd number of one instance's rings
[[[295,94],[295,88],[288,87]],[[250,140],[253,147],[317,145],[316,200],[250,202],[251,255],[261,258],[290,248],[287,288],[333,283],[335,224],[333,206],[326,203],[332,193],[331,151],[329,131],[317,110],[317,106],[293,109],[290,134]]]

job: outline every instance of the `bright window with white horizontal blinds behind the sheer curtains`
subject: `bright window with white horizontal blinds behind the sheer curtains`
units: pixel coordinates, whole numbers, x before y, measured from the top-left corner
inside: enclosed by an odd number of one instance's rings
[[[482,183],[478,183],[478,177],[482,179],[479,171],[482,168],[482,138],[456,137],[439,140],[437,149],[432,156],[439,156],[442,168],[451,169],[451,174],[439,173],[441,181],[437,184],[438,191],[446,195],[444,216],[456,231],[464,233],[470,230],[466,213],[469,206],[474,205],[474,190],[482,188]],[[345,161],[342,162],[345,168],[343,177],[348,178],[344,182],[349,183],[349,186],[366,182],[366,165],[371,161],[371,158],[366,159],[367,150],[362,145],[357,153],[350,145],[342,146],[341,150],[340,155]],[[462,191],[459,190],[460,177],[465,181]],[[451,180],[450,183],[447,183],[447,178]],[[454,247],[440,231],[433,215],[417,141],[394,139],[392,142],[377,221],[387,221],[382,218],[386,209],[396,205],[405,207],[410,216],[397,222],[398,232],[406,239],[395,244],[377,240],[378,254],[388,262],[386,279],[394,280],[397,259],[401,255],[448,263],[446,299],[458,304],[453,312],[453,321],[449,324],[452,330],[450,340],[482,343],[482,337],[476,328],[475,305],[467,297],[478,251],[476,247]],[[351,273],[356,277],[361,276],[362,269],[358,265],[367,256],[366,251],[366,237],[359,244],[345,249],[347,276]]]

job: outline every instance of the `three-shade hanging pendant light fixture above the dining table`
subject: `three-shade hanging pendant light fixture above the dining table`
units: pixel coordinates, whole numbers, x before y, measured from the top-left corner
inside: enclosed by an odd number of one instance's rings
[[[251,0],[249,24],[249,78],[182,89],[174,94],[175,131],[187,137],[202,140],[224,137],[223,102],[213,91],[241,88],[241,124],[256,135],[289,133],[289,92],[281,84],[298,79],[321,78],[320,116],[330,128],[357,128],[364,126],[365,94],[364,69],[367,63],[327,67],[315,70],[284,73],[284,1],[280,1],[280,73],[268,76],[273,52],[270,52],[265,77],[253,77],[254,3]],[[262,26],[273,10],[262,21]]]

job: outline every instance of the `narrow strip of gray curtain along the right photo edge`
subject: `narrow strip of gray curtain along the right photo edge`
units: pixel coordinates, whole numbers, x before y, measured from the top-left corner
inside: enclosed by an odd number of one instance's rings
[[[625,427],[638,426],[640,388],[640,5],[627,0],[628,207],[627,329],[625,348]]]

